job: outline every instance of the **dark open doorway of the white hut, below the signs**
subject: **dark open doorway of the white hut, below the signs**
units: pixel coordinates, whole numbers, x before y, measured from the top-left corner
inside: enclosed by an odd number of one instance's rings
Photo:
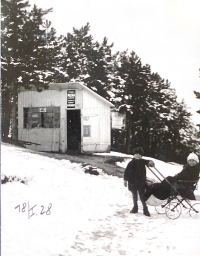
[[[80,110],[67,110],[67,150],[80,150],[81,113]]]

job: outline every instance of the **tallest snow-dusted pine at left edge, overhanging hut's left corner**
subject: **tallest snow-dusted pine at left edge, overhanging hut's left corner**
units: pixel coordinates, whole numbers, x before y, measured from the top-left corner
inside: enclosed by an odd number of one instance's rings
[[[23,0],[2,2],[2,98],[5,99],[2,101],[2,117],[12,120],[12,137],[15,140],[19,88],[29,89],[34,84],[38,91],[47,89],[55,76],[54,37],[47,37],[46,30],[42,28],[44,16],[52,9],[42,10],[34,5],[28,11],[28,7],[28,1]],[[53,29],[51,32],[55,35]],[[6,102],[11,103],[8,109]],[[3,136],[8,135],[8,129],[8,125],[4,127]]]

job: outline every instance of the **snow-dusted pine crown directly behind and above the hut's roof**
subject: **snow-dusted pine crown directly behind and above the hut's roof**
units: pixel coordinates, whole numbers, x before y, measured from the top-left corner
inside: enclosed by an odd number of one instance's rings
[[[114,61],[111,54],[113,44],[104,38],[102,43],[95,42],[87,23],[80,29],[73,28],[63,43],[63,56],[60,65],[68,74],[69,81],[83,82],[99,95],[110,99]]]

